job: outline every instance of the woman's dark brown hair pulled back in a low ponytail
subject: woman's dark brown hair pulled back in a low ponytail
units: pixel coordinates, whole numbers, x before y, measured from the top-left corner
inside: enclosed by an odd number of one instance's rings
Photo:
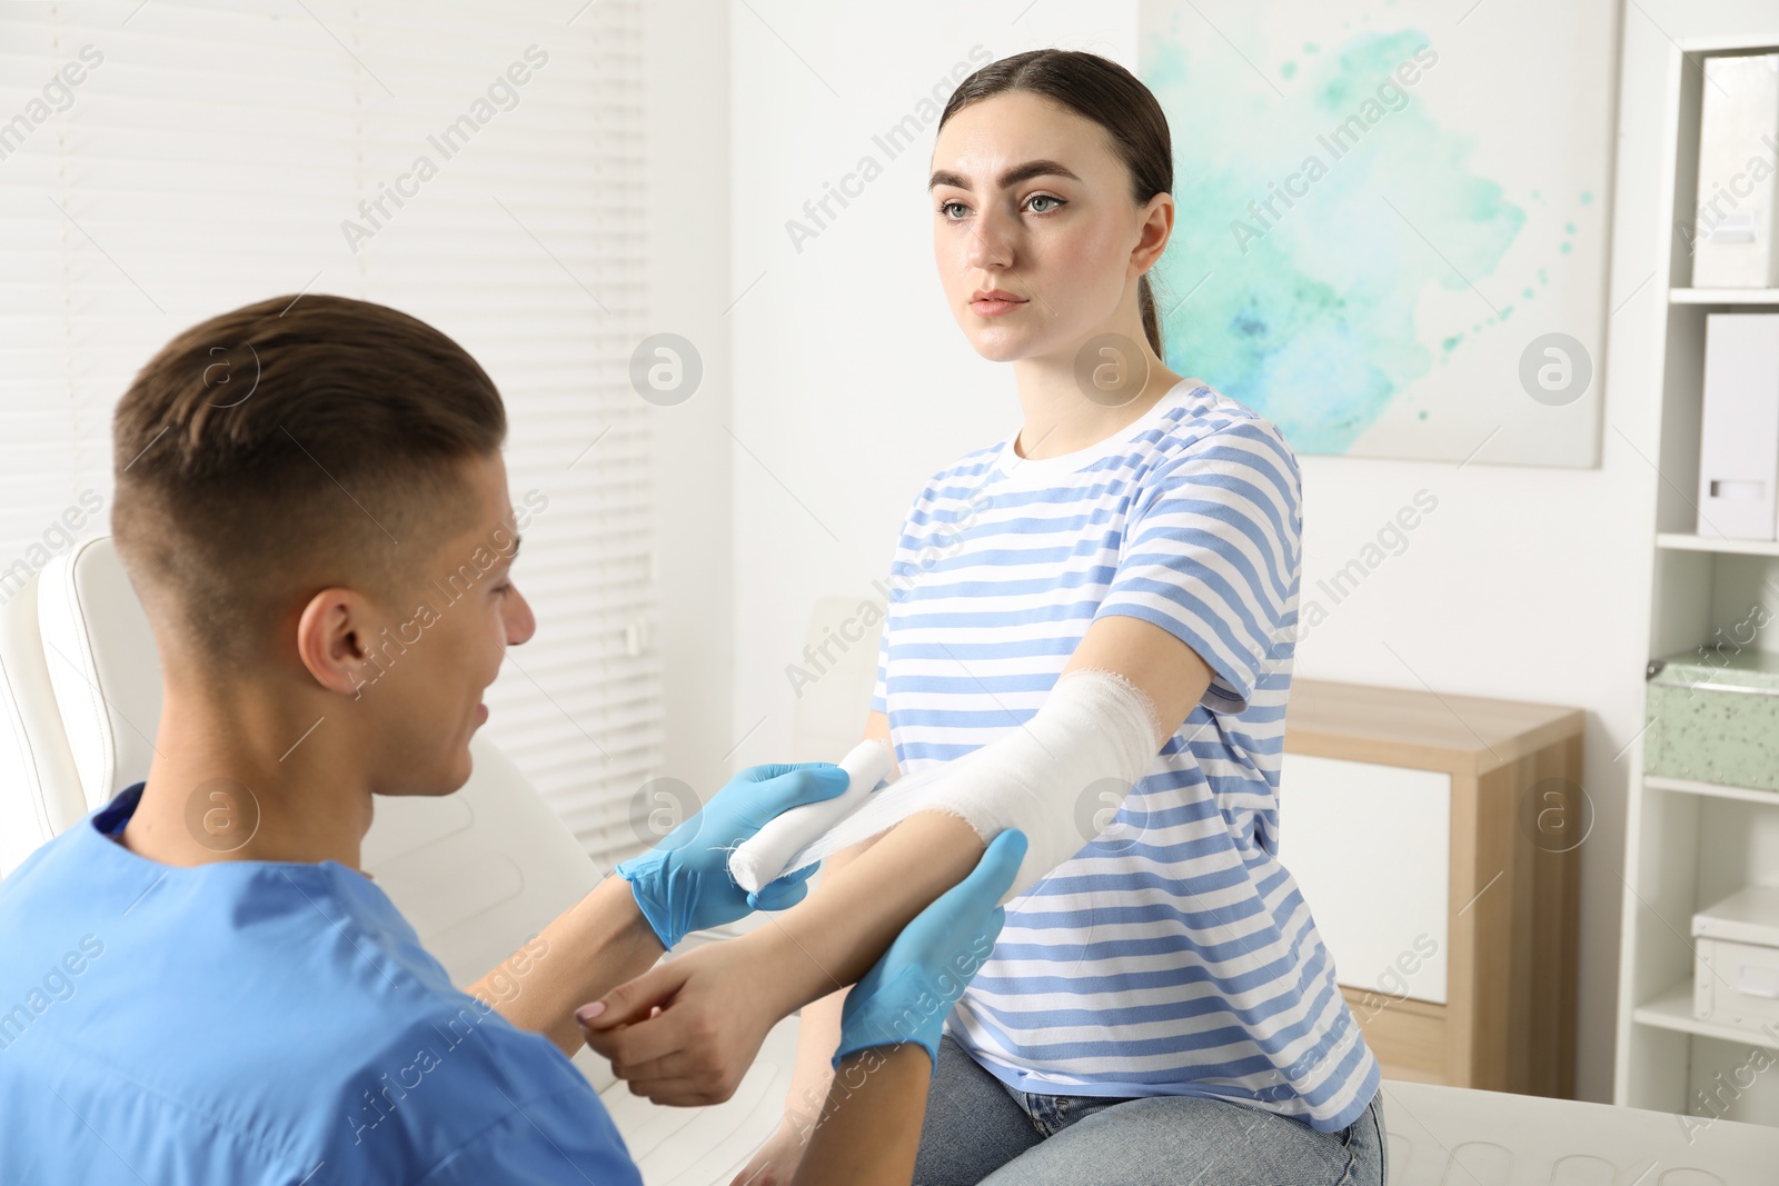
[[[1112,151],[1130,167],[1131,201],[1139,206],[1156,194],[1174,192],[1174,140],[1167,116],[1149,87],[1112,59],[1080,50],[1026,50],[989,62],[952,92],[939,128],[971,103],[1009,91],[1042,94],[1105,128]],[[1137,308],[1142,309],[1142,333],[1162,357],[1162,322],[1147,272],[1137,281]]]

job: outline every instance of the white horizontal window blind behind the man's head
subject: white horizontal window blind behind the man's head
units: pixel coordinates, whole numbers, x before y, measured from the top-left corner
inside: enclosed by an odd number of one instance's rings
[[[514,507],[548,500],[484,729],[598,861],[637,850],[640,30],[623,0],[0,4],[0,569],[64,549],[69,509],[109,530],[112,407],[174,333],[299,292],[413,313],[500,386]]]

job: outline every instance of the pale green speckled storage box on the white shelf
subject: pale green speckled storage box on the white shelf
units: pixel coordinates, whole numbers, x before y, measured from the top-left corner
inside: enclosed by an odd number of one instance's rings
[[[1686,651],[1647,679],[1644,773],[1779,791],[1779,654]]]

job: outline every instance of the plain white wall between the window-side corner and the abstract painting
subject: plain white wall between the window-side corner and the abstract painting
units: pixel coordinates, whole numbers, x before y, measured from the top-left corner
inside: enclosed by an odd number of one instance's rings
[[[868,594],[927,477],[1018,427],[1010,372],[970,349],[934,272],[938,112],[978,66],[1035,46],[1135,69],[1137,5],[749,0],[731,39],[733,738],[738,761],[776,761],[813,601]],[[873,137],[909,116],[927,126],[891,158]],[[799,249],[786,222],[866,155],[882,176]]]

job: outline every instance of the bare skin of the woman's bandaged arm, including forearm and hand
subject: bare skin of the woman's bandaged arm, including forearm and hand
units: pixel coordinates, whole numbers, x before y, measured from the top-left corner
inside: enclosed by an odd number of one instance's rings
[[[1211,677],[1176,635],[1128,615],[1089,626],[1064,674],[1076,669],[1124,676],[1174,727]],[[909,919],[970,873],[982,848],[957,816],[911,814],[770,925],[614,989],[587,1040],[656,1102],[728,1099],[772,1024],[865,974]],[[651,1017],[656,1005],[664,1010]]]

